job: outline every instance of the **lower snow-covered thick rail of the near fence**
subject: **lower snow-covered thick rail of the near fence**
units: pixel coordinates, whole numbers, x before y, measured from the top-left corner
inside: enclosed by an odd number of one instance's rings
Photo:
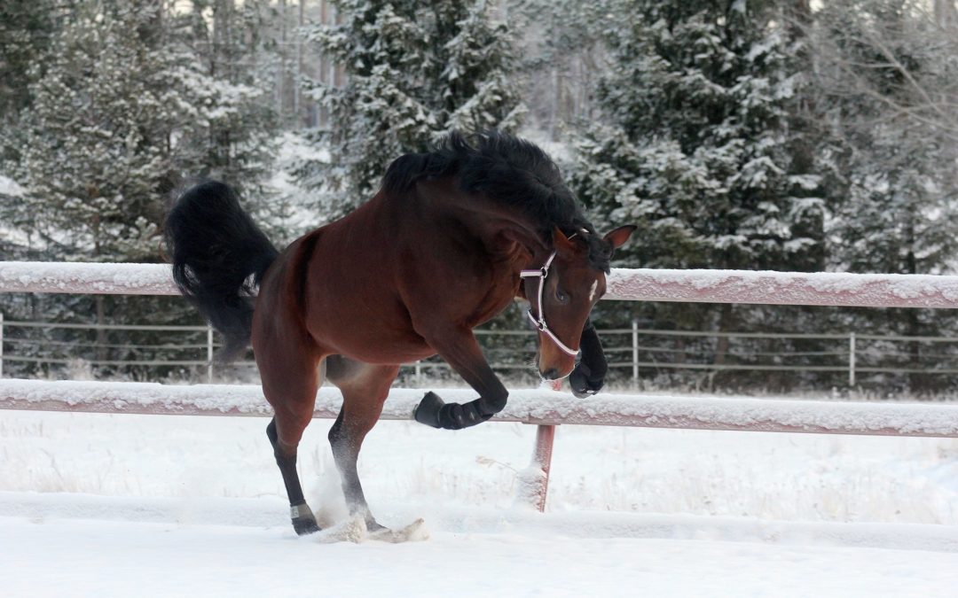
[[[468,388],[438,391],[468,401]],[[393,388],[381,419],[408,421],[423,390]],[[342,397],[320,388],[313,416],[335,419]],[[262,389],[252,385],[173,386],[136,382],[0,380],[0,409],[162,415],[268,417]],[[549,389],[512,390],[493,421],[547,426],[624,426],[739,432],[829,433],[958,438],[958,406],[602,393],[575,399]]]

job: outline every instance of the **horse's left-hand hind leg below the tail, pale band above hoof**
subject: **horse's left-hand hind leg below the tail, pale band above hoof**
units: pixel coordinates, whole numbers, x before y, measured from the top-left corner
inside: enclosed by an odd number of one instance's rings
[[[296,454],[303,431],[312,419],[322,372],[316,365],[295,367],[289,362],[270,369],[268,373],[262,366],[260,370],[263,393],[275,410],[272,421],[266,426],[266,435],[283,474],[293,529],[300,536],[311,534],[319,531],[319,525],[303,496],[303,486],[296,471]]]

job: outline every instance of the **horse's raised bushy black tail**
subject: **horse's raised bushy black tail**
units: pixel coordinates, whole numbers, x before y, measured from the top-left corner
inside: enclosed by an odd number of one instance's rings
[[[165,236],[176,286],[225,338],[217,361],[235,360],[249,345],[255,287],[279,253],[216,181],[180,195]]]

